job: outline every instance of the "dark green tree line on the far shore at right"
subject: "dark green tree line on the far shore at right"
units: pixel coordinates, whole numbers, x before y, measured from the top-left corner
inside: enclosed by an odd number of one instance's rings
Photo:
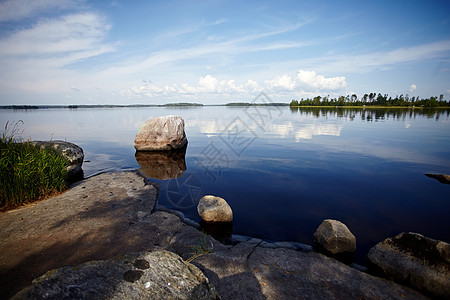
[[[449,101],[444,100],[444,95],[439,97],[419,98],[416,96],[409,97],[408,94],[390,97],[388,94],[382,95],[381,93],[369,93],[364,94],[361,98],[358,98],[356,94],[339,96],[338,98],[331,99],[328,97],[316,96],[314,98],[307,98],[295,100],[293,99],[290,106],[398,106],[398,107],[449,107]]]

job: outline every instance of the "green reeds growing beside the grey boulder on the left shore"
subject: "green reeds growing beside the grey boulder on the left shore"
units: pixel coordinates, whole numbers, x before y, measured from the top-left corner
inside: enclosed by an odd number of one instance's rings
[[[16,122],[0,140],[0,209],[45,198],[68,187],[69,162],[51,147],[41,149],[20,138]]]

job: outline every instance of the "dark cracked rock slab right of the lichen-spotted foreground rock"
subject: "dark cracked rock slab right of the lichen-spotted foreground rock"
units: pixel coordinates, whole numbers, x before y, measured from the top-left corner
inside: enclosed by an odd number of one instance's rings
[[[317,252],[239,243],[195,259],[222,299],[426,299]]]

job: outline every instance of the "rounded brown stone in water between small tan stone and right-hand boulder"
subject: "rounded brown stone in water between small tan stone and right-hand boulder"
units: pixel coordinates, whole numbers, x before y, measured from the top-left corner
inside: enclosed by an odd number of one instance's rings
[[[355,236],[345,224],[336,220],[324,220],[314,232],[313,239],[320,248],[332,254],[356,251]]]

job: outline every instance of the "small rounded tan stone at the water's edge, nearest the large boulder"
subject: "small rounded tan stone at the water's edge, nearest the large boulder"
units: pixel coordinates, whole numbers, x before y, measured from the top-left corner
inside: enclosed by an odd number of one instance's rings
[[[205,222],[233,221],[233,211],[225,199],[221,197],[203,196],[197,205],[197,211]]]

